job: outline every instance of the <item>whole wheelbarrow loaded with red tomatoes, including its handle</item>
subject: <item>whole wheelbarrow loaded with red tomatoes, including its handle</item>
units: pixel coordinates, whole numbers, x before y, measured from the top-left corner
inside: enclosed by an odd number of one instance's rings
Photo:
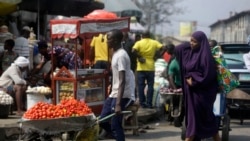
[[[85,102],[75,99],[63,100],[57,105],[39,102],[20,120],[22,139],[48,141],[59,137],[61,140],[97,141],[98,124],[114,115],[97,118]]]

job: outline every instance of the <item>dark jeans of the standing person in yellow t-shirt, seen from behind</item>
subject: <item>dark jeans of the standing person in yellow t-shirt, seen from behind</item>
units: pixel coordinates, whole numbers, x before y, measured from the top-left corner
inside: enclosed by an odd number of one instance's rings
[[[137,71],[139,101],[142,107],[152,107],[152,100],[154,94],[154,78],[154,71]],[[144,93],[146,82],[148,85],[147,99]]]

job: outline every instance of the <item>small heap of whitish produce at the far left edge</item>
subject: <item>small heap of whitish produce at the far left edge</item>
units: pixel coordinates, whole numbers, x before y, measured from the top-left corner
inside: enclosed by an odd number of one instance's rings
[[[13,104],[13,98],[6,92],[0,91],[0,118],[8,117],[11,104]]]

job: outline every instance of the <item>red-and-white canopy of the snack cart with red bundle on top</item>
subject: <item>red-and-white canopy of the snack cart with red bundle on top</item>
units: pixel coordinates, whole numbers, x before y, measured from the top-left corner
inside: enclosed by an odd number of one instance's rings
[[[84,18],[50,20],[51,38],[76,38],[112,29],[129,31],[130,18],[119,18],[114,13],[95,10]]]

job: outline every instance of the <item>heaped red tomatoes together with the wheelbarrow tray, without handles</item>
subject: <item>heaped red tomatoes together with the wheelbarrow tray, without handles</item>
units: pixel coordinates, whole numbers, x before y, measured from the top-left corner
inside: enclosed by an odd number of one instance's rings
[[[83,128],[95,124],[96,120],[85,102],[72,98],[62,100],[57,105],[38,102],[24,113],[21,121],[24,132],[59,135],[64,132],[82,131]]]

